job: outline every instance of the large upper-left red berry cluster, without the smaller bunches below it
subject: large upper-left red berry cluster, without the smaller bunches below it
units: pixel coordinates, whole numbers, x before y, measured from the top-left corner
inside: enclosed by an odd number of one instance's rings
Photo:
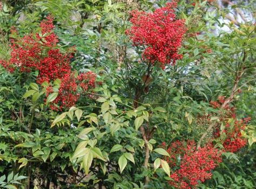
[[[53,32],[53,18],[48,16],[40,24],[41,32],[26,34],[24,37],[11,39],[11,58],[1,64],[9,71],[39,71],[37,82],[52,81],[70,74],[70,53],[62,53],[56,46],[58,37]],[[18,36],[15,29],[11,34]]]

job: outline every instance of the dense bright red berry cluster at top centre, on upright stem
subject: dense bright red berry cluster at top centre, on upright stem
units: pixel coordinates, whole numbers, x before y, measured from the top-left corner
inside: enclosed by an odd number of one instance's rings
[[[134,46],[143,46],[143,59],[150,64],[175,64],[181,59],[178,54],[181,41],[186,32],[184,20],[176,19],[174,9],[177,0],[167,3],[165,7],[153,13],[134,10],[130,19],[132,27],[126,31]]]

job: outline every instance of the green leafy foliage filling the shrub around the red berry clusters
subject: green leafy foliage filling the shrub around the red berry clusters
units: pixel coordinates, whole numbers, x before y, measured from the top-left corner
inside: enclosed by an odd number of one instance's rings
[[[147,75],[142,50],[125,35],[129,12],[153,11],[166,2],[3,2],[0,60],[10,57],[11,26],[23,35],[50,14],[60,50],[76,46],[72,69],[97,73],[100,85],[76,106],[53,111],[59,79],[46,97],[48,83],[38,85],[38,73],[9,73],[0,65],[1,188],[174,188],[168,181],[175,170],[166,162],[171,154],[162,143],[198,142],[207,127],[197,120],[217,113],[209,102],[221,95],[232,96],[239,118],[251,116],[242,131],[248,145],[225,153],[212,179],[198,188],[255,188],[255,26],[221,21],[237,5],[179,1],[177,17],[187,27],[183,59],[164,70],[154,66]]]

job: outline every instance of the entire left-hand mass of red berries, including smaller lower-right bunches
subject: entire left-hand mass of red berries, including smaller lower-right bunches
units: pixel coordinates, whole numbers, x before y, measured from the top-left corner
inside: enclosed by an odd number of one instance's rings
[[[58,37],[53,32],[53,18],[48,16],[40,24],[41,31],[18,37],[18,32],[12,29],[11,58],[0,60],[0,64],[10,72],[18,69],[20,72],[38,71],[37,83],[49,82],[46,96],[53,92],[51,81],[60,79],[58,96],[51,105],[52,109],[75,106],[80,93],[78,87],[85,92],[95,88],[97,75],[93,72],[82,73],[75,77],[71,70],[70,59],[74,49],[63,53],[57,46]]]

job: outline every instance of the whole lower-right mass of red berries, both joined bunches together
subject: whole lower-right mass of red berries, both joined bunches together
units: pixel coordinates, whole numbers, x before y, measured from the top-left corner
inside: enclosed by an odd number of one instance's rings
[[[215,109],[219,109],[218,116],[220,123],[224,123],[223,130],[220,129],[221,124],[214,123],[213,138],[220,137],[221,133],[225,135],[223,141],[224,149],[214,148],[212,140],[208,141],[204,147],[198,148],[194,141],[176,141],[171,143],[167,152],[170,157],[166,158],[172,170],[172,180],[170,185],[179,189],[196,188],[199,181],[204,182],[206,179],[212,177],[211,171],[221,162],[221,155],[223,152],[237,152],[247,143],[246,138],[243,138],[241,131],[245,129],[246,124],[251,120],[250,117],[242,120],[237,120],[234,113],[234,108],[221,105],[225,102],[224,96],[219,96],[218,101],[212,101],[211,105]],[[201,117],[204,124],[213,124],[211,116]],[[233,120],[229,122],[228,120]],[[213,139],[212,138],[212,139]],[[166,144],[163,143],[166,147]]]

